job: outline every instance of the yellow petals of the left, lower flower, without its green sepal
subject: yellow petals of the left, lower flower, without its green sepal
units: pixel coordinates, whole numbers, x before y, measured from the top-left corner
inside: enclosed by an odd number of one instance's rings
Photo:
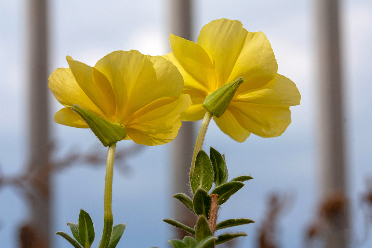
[[[65,106],[55,113],[55,122],[89,128],[71,109],[77,104],[110,123],[124,125],[125,139],[138,144],[161,145],[177,136],[180,113],[191,100],[182,94],[182,75],[171,62],[135,50],[112,52],[94,67],[70,56],[66,59],[70,67],[58,68],[49,77],[50,90]]]

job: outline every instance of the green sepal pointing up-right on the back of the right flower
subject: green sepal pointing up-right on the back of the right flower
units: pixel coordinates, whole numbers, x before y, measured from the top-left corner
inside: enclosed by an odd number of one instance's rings
[[[205,98],[203,107],[205,107],[217,118],[221,117],[229,106],[236,90],[243,82],[243,78],[240,77],[237,80],[234,80],[231,83],[228,83],[225,86],[215,90],[212,94]]]

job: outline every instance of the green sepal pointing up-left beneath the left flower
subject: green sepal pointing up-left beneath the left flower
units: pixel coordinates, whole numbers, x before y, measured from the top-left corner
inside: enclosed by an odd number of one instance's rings
[[[109,122],[101,116],[84,109],[77,104],[71,107],[72,110],[77,112],[92,129],[93,133],[102,142],[104,146],[109,146],[114,142],[121,141],[126,136],[126,129],[124,125]]]

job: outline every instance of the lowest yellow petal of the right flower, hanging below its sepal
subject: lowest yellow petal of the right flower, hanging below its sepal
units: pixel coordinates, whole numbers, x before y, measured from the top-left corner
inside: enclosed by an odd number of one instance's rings
[[[250,132],[248,132],[238,123],[228,109],[221,117],[217,118],[213,116],[213,119],[222,132],[226,133],[228,136],[238,142],[245,141],[250,135]]]

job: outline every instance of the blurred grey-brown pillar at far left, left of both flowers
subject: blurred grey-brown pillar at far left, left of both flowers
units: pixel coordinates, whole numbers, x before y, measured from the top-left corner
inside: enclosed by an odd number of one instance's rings
[[[28,8],[30,224],[36,232],[37,244],[50,247],[47,0],[30,0]]]

